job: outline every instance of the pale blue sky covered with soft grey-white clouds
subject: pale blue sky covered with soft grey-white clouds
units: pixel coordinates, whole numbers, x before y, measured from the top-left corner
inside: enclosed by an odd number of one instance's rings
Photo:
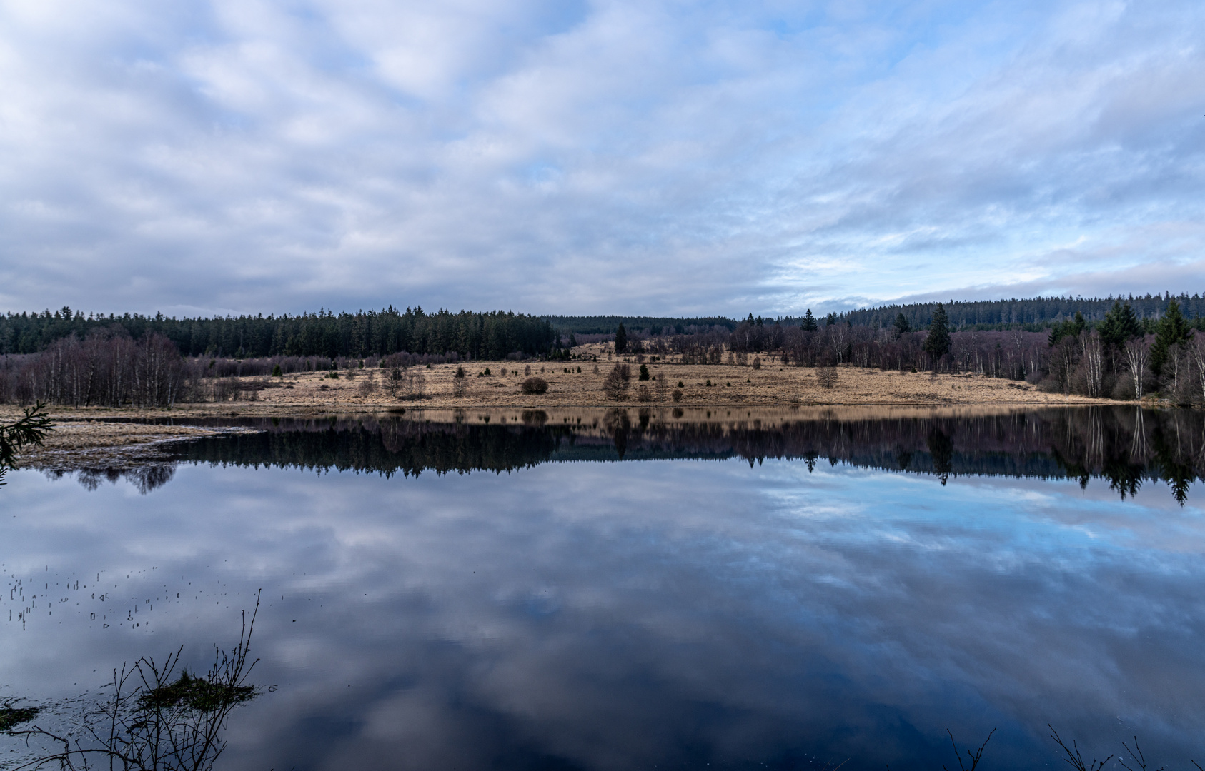
[[[0,310],[1193,293],[1203,73],[1178,0],[0,0]]]

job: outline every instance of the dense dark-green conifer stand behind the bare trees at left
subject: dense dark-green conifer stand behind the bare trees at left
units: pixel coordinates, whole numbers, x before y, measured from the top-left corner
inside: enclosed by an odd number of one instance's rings
[[[462,358],[505,358],[511,354],[549,355],[560,349],[559,333],[537,316],[516,313],[428,314],[422,308],[358,313],[319,310],[301,315],[242,315],[176,319],[155,314],[84,315],[55,312],[0,315],[0,354],[33,354],[55,340],[87,338],[119,330],[133,339],[160,334],[186,356],[384,356],[458,354]]]

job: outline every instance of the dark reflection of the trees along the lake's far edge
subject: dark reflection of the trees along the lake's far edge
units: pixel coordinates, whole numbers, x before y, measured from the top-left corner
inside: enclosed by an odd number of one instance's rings
[[[1164,481],[1183,504],[1205,474],[1205,414],[1093,407],[950,415],[860,410],[721,417],[681,409],[605,410],[562,416],[543,410],[511,415],[454,413],[323,419],[211,421],[259,428],[170,446],[174,462],[376,472],[417,476],[513,472],[562,461],[768,458],[817,461],[951,478],[1016,476],[1107,480],[1122,499],[1145,482]],[[84,469],[94,490],[102,479],[130,479],[141,492],[171,480],[172,464],[142,469]],[[57,469],[54,473],[63,473]]]

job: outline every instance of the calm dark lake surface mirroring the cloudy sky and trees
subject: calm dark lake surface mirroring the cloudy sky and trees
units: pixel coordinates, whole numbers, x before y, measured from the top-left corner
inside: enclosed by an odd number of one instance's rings
[[[223,767],[1205,763],[1198,413],[484,417],[11,474],[0,696],[201,662],[263,588]]]

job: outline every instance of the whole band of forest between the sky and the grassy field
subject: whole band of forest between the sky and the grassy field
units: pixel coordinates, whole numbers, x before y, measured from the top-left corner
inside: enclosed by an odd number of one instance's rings
[[[1104,302],[1039,298],[952,303],[950,309],[930,303],[893,307],[894,316],[881,308],[823,319],[811,310],[800,318],[750,314],[740,321],[622,318],[630,328],[618,321],[609,332],[595,330],[621,316],[427,314],[390,307],[177,320],[161,314],[84,316],[63,308],[0,315],[0,402],[170,407],[233,398],[228,381],[239,375],[565,360],[581,356],[572,351],[580,342],[576,331],[637,361],[649,355],[683,364],[756,367],[765,355],[825,369],[978,373],[1089,397],[1205,402],[1200,297],[1142,297],[1133,304],[1115,298],[1101,310]],[[1033,320],[1042,316],[1047,320]],[[1012,320],[995,327],[983,321],[1005,318]],[[566,320],[576,321],[570,328],[558,326]]]

